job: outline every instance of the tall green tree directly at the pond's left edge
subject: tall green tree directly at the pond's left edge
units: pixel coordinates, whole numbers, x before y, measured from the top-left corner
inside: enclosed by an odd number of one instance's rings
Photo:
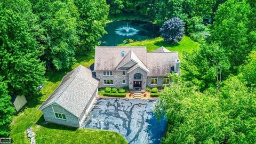
[[[78,0],[78,52],[87,54],[98,44],[99,39],[106,33],[109,6],[105,0]]]

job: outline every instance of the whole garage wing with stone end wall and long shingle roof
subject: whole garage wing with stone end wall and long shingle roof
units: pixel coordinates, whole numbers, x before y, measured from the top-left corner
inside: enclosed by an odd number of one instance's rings
[[[97,97],[98,85],[92,71],[80,65],[63,77],[38,110],[47,122],[81,127]]]

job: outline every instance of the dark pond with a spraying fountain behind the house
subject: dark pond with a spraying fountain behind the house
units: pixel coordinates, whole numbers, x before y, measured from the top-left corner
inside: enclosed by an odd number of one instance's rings
[[[100,39],[101,46],[117,46],[125,39],[143,41],[158,37],[159,27],[151,22],[140,20],[114,21],[107,24],[105,34]]]

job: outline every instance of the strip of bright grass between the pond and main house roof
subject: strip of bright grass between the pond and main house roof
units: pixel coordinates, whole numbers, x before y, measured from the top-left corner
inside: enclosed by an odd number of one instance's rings
[[[164,46],[169,51],[177,51],[179,54],[182,52],[191,52],[193,50],[199,49],[199,43],[194,42],[187,36],[184,36],[182,40],[175,44],[169,44],[164,42],[162,37],[157,37],[154,39],[146,39],[145,41],[138,41],[129,44],[120,44],[119,46],[147,46],[147,51],[155,51],[161,46]]]

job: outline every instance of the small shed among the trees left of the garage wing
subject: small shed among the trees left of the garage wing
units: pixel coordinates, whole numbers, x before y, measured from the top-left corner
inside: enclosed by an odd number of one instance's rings
[[[19,111],[21,108],[23,108],[26,105],[27,100],[24,95],[15,94],[15,95],[12,95],[11,102],[12,102],[12,106],[14,106],[16,111]]]

